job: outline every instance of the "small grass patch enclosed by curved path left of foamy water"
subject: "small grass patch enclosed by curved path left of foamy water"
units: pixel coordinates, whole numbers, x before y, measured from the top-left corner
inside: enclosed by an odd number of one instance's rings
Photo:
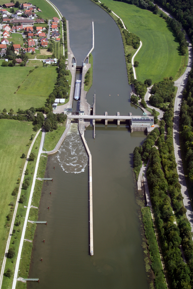
[[[56,130],[54,129],[53,131],[49,131],[46,133],[44,147],[47,151],[52,151],[56,147],[56,144],[58,143],[63,132],[65,131],[65,123],[66,121],[64,122],[64,124],[58,124],[58,128]]]

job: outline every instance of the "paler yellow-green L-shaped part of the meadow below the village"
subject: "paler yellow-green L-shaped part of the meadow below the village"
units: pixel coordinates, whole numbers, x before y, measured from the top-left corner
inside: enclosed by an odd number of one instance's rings
[[[0,65],[2,60],[0,61]],[[31,67],[27,66],[14,66],[14,67],[3,67],[0,66],[0,110],[6,108],[7,111],[12,108],[14,113],[17,112],[18,108],[26,110],[31,106],[36,108],[42,107],[45,104],[46,97],[34,95],[20,95],[18,92],[14,94],[18,86],[22,84],[24,79],[27,77]],[[38,68],[39,69],[39,68]]]

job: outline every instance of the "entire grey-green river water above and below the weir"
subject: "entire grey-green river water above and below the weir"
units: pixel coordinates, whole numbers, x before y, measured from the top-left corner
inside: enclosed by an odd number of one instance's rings
[[[141,115],[129,101],[122,39],[113,19],[89,0],[53,3],[69,20],[78,65],[92,47],[94,21],[93,85],[87,101],[92,105],[96,90],[96,114]],[[148,289],[132,173],[133,149],[146,136],[131,134],[125,124],[96,124],[95,140],[92,127],[84,136],[92,155],[94,255],[89,255],[88,157],[73,123],[59,151],[47,160],[45,176],[53,182],[43,185],[38,218],[47,225],[36,228],[29,273],[40,283],[28,288]]]

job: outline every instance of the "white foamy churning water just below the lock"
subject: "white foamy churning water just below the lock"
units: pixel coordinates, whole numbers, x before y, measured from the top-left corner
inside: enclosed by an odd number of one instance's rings
[[[84,172],[88,163],[88,156],[79,134],[77,123],[71,124],[65,140],[54,158],[59,161],[61,168],[66,173],[77,174]],[[54,158],[52,159],[53,161]]]

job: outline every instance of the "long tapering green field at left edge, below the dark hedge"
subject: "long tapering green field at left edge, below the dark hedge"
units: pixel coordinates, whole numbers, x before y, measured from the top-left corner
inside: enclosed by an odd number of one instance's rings
[[[22,159],[21,155],[27,154],[29,150],[26,144],[34,133],[32,128],[32,122],[0,119],[0,256],[5,253],[5,244],[10,230],[8,226],[11,220],[7,221],[6,216],[10,211],[9,203],[14,199],[11,193],[25,164],[25,159]],[[2,261],[3,259],[1,264]]]

